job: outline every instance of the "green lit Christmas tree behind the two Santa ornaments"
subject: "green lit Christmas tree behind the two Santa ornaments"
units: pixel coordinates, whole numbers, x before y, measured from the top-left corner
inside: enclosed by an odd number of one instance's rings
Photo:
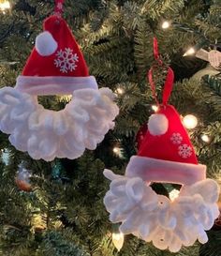
[[[0,0],[1,88],[15,85],[42,32],[42,22],[53,8],[52,0]],[[103,204],[110,184],[103,170],[125,173],[129,158],[137,152],[136,135],[155,113],[146,80],[147,70],[156,65],[154,37],[165,64],[157,66],[156,91],[161,91],[165,67],[170,66],[175,84],[169,102],[184,117],[191,114],[185,118],[186,127],[199,162],[207,166],[207,176],[219,183],[220,67],[202,49],[210,53],[221,48],[221,2],[66,0],[63,16],[81,46],[90,74],[100,87],[115,92],[120,113],[115,128],[96,150],[86,150],[74,160],[35,160],[16,150],[8,136],[0,133],[1,255],[221,255],[218,220],[207,232],[208,243],[197,242],[171,253],[133,235],[124,237],[118,224],[111,224]],[[40,104],[54,111],[64,109],[69,100],[68,96],[38,97]],[[169,196],[179,186],[155,183],[153,188]],[[118,252],[123,238],[124,247]]]

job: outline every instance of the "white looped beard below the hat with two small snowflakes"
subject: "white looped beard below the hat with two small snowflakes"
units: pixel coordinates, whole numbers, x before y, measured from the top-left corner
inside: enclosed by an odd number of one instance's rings
[[[133,233],[171,252],[191,246],[197,239],[202,244],[208,241],[204,230],[210,230],[219,215],[219,188],[214,180],[184,186],[179,197],[170,201],[140,177],[116,175],[110,170],[104,175],[111,180],[104,203],[111,222],[122,222],[122,233]]]

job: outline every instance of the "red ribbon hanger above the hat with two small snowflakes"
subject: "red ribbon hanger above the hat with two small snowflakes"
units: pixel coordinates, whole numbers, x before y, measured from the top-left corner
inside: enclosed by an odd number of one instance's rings
[[[160,66],[163,66],[163,61],[160,59],[159,52],[158,52],[158,44],[157,44],[157,39],[154,38],[154,55],[155,55],[155,60],[158,62]],[[147,79],[149,80],[149,83],[151,85],[153,97],[155,98],[155,102],[157,106],[159,106],[159,101],[156,97],[155,93],[155,82],[153,79],[153,70],[155,67],[152,67],[149,72],[147,73]],[[174,73],[171,68],[168,68],[168,74],[166,77],[166,81],[164,83],[164,89],[163,89],[163,105],[167,105],[169,96],[172,90],[172,85],[173,85],[173,80],[174,80]]]

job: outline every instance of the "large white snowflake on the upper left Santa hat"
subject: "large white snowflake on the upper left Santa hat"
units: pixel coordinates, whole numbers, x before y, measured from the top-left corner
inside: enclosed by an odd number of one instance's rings
[[[54,60],[56,68],[60,68],[62,73],[75,70],[78,66],[76,62],[79,61],[77,53],[73,53],[73,50],[66,48],[65,51],[60,50],[56,53],[57,59]]]

